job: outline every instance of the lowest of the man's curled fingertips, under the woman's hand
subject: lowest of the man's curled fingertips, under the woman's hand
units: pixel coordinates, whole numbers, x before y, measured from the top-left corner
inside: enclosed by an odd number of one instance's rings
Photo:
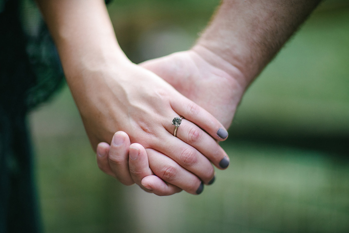
[[[182,191],[177,186],[164,182],[155,175],[144,177],[142,179],[142,185],[158,196],[169,196]]]

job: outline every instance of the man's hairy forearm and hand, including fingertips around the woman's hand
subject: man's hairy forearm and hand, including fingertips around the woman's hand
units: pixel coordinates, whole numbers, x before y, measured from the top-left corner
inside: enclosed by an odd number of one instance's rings
[[[192,49],[153,59],[141,66],[165,79],[228,128],[248,85],[319,2],[223,0]],[[182,129],[184,127],[178,132]],[[157,195],[171,194],[166,183],[151,174],[148,150],[140,144],[129,144],[124,132],[118,132],[114,137],[120,135],[125,138],[125,143],[120,146],[98,145],[99,168],[106,173],[118,173],[109,160],[125,156],[128,164],[119,166],[129,167],[130,172],[125,172],[124,176],[131,177],[141,188],[146,187]],[[136,159],[135,151],[138,154]]]

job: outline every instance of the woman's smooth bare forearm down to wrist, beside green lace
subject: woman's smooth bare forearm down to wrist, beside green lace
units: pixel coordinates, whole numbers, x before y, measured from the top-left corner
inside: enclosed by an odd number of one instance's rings
[[[88,79],[97,77],[91,73],[129,62],[119,47],[104,1],[37,1],[72,90],[90,85]]]

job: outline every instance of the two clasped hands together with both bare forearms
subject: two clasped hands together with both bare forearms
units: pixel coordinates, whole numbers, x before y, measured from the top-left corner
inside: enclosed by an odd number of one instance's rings
[[[243,93],[319,0],[223,0],[192,49],[140,65],[120,49],[104,1],[37,2],[91,145],[99,143],[99,167],[171,195],[199,194],[214,181],[212,164],[228,167],[217,141]],[[184,117],[176,133],[174,117]]]

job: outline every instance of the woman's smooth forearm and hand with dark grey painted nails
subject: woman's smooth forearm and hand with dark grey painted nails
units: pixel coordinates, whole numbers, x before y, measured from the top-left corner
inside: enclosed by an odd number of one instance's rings
[[[182,189],[201,192],[203,183],[214,178],[212,164],[221,168],[222,160],[229,163],[216,143],[228,136],[224,126],[155,73],[128,60],[103,0],[38,0],[38,5],[92,147],[111,141],[116,131],[127,132],[123,143],[140,143],[142,153],[147,149],[147,168],[167,182],[165,195]],[[179,116],[185,117],[183,130],[174,137],[171,121]],[[134,183],[128,165],[116,169],[128,163],[128,150],[127,157],[111,157],[109,163],[106,173],[123,184]]]

